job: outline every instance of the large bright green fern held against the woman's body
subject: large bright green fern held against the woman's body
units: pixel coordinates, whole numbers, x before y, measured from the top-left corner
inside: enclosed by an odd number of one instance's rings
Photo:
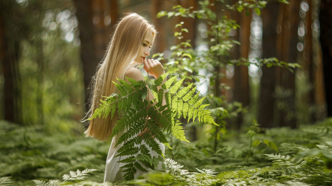
[[[155,99],[150,102],[145,100],[148,93],[147,82],[135,81],[126,77],[129,84],[118,79],[119,83],[113,83],[119,91],[105,97],[105,100],[101,100],[99,108],[89,118],[106,118],[108,115],[111,115],[112,118],[116,109],[118,110],[121,119],[117,121],[109,139],[120,135],[116,146],[123,145],[118,150],[117,156],[127,156],[121,161],[125,163],[122,168],[125,168],[124,179],[126,180],[133,179],[133,174],[137,170],[154,169],[163,160],[164,155],[156,140],[170,147],[164,132],[171,133],[181,141],[189,142],[178,118],[187,118],[188,122],[190,119],[194,121],[195,118],[198,118],[200,122],[217,125],[211,112],[205,110],[208,104],[202,105],[205,97],[198,100],[199,92],[195,94],[196,87],[192,88],[193,83],[180,89],[184,78],[174,83],[177,76],[173,76],[163,83],[166,76],[167,73],[161,75],[151,85],[151,92]],[[172,86],[172,84],[174,85]],[[162,105],[164,97],[166,105]],[[152,107],[150,104],[154,102],[156,104]],[[162,123],[161,127],[156,123]],[[148,132],[144,133],[142,137],[137,137],[137,134],[145,129]],[[148,148],[155,151],[158,156],[151,156]]]

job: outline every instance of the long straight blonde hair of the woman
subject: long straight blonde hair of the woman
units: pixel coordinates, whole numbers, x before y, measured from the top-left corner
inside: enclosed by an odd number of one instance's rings
[[[112,81],[117,82],[117,78],[122,79],[124,70],[129,65],[138,66],[133,60],[138,55],[140,45],[149,31],[152,32],[154,39],[157,33],[154,26],[136,13],[127,14],[118,22],[107,48],[106,56],[92,80],[93,96],[90,101],[90,109],[86,114],[87,118],[91,117],[99,107],[100,99],[104,99],[102,96],[110,96],[116,92],[116,87]],[[118,115],[112,119],[111,116],[105,119],[99,117],[91,119],[85,134],[105,141],[111,136],[118,119]]]

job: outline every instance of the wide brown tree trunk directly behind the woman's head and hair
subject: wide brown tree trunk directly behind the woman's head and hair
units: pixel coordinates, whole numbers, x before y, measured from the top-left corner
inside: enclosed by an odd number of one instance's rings
[[[85,101],[90,98],[88,90],[96,68],[110,42],[111,28],[119,19],[115,0],[75,0],[81,40],[81,60],[84,71]]]

